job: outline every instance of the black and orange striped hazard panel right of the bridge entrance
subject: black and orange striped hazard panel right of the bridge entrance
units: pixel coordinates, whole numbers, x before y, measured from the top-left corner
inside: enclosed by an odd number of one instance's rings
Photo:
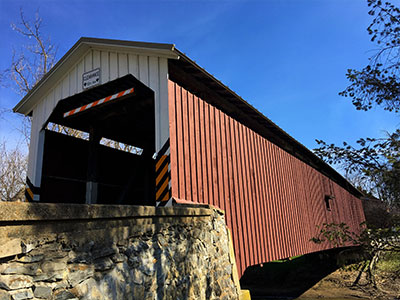
[[[164,206],[171,198],[171,172],[169,170],[170,156],[169,139],[158,152],[156,157],[156,202],[158,206]]]

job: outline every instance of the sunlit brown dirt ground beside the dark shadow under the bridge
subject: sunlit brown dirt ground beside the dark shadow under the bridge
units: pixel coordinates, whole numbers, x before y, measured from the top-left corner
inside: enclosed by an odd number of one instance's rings
[[[379,299],[400,300],[400,276],[380,273],[377,288],[367,284],[365,276],[359,285],[352,286],[356,271],[337,270],[301,295],[299,300],[314,299]]]

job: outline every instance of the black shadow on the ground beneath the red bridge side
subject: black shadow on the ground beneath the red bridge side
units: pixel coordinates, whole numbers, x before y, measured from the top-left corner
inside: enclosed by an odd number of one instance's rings
[[[252,299],[295,299],[336,271],[346,251],[333,249],[251,266],[240,284],[250,290]]]

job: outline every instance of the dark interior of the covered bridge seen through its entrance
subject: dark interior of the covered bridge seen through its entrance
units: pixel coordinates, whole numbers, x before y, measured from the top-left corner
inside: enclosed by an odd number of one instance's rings
[[[132,87],[133,94],[64,117]],[[45,131],[42,202],[154,204],[152,90],[128,75],[60,101],[48,122],[83,131],[88,139]],[[101,145],[102,138],[134,151]]]

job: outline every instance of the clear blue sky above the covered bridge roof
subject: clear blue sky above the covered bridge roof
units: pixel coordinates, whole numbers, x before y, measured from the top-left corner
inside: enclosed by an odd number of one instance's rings
[[[19,9],[39,10],[60,58],[81,37],[167,42],[195,60],[306,145],[380,136],[394,113],[356,111],[338,96],[348,68],[362,68],[374,45],[366,0],[0,0],[0,70],[23,42],[11,29]],[[0,108],[20,97],[0,88]],[[19,140],[19,119],[0,120],[0,142]]]

